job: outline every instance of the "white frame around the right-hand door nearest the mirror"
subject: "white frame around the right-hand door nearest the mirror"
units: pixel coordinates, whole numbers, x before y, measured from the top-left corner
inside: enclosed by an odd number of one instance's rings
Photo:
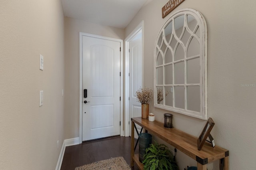
[[[124,94],[124,136],[129,136],[129,42],[141,30],[142,31],[142,87],[143,87],[143,58],[144,58],[144,21],[130,33],[124,40],[125,43],[125,94]]]

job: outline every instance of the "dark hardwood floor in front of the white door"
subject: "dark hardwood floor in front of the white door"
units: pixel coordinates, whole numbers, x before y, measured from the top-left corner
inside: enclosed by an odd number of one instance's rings
[[[124,157],[130,165],[130,145],[131,137],[117,136],[68,146],[65,149],[61,170],[74,170],[77,166],[118,156]],[[138,153],[138,146],[135,153]],[[138,168],[134,166],[134,170]]]

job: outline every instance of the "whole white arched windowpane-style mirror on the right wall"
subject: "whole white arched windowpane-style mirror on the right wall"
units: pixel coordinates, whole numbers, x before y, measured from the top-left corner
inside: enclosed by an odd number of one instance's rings
[[[154,46],[154,106],[207,119],[207,27],[186,8],[162,26]]]

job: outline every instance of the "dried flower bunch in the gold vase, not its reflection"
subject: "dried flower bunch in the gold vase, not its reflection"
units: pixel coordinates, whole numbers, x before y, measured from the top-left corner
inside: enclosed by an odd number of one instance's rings
[[[147,87],[140,88],[136,91],[137,101],[141,104],[149,104],[150,100],[152,99],[152,89]]]

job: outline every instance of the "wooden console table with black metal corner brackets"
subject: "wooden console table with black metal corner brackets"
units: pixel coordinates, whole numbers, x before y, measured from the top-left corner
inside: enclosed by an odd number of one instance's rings
[[[139,161],[138,154],[134,155],[134,127],[135,123],[140,125],[150,134],[158,136],[168,144],[174,146],[184,154],[190,156],[197,161],[198,170],[207,170],[207,164],[215,160],[220,162],[220,170],[228,170],[228,150],[215,146],[214,148],[209,142],[205,142],[202,149],[197,149],[197,138],[175,128],[165,128],[164,123],[158,121],[150,122],[141,117],[132,118],[131,129],[131,166],[134,167],[134,162],[138,165],[140,170],[143,170],[143,164]]]

